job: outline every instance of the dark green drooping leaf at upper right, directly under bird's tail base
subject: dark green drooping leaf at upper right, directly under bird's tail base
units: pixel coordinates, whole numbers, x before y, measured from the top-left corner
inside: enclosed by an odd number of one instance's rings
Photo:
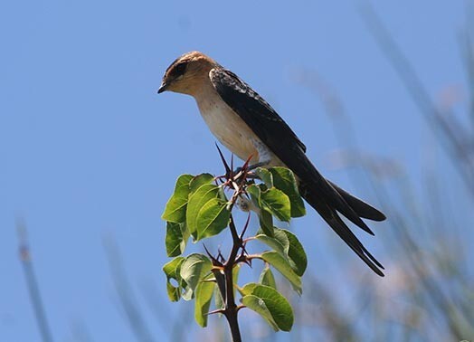
[[[273,185],[288,195],[291,217],[300,217],[306,214],[305,204],[299,195],[298,184],[293,172],[286,167],[271,167],[269,169],[273,176]]]

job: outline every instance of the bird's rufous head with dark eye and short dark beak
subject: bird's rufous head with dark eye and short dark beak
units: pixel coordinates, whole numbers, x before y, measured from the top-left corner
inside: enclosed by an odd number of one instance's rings
[[[218,64],[202,52],[187,52],[166,69],[158,94],[169,90],[193,95]]]

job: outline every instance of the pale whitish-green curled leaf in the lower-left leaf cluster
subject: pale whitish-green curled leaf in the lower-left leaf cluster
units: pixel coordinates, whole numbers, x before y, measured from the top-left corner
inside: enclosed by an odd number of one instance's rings
[[[181,278],[185,280],[187,285],[182,296],[183,299],[189,300],[193,298],[194,290],[199,281],[203,280],[212,268],[213,263],[204,254],[194,253],[185,258],[185,261],[181,264],[180,271]]]

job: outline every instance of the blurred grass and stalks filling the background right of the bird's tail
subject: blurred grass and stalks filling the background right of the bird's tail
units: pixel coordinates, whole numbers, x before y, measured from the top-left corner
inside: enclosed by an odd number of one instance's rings
[[[436,106],[372,7],[365,5],[362,15],[474,198],[474,124],[472,129],[466,128],[450,113],[450,107]],[[474,43],[469,34],[465,38],[468,38],[463,43],[470,88],[467,119],[474,123]],[[474,271],[466,246],[466,235],[472,237],[471,231],[466,232],[471,228],[466,224],[471,213],[462,213],[446,204],[445,192],[452,189],[440,188],[446,183],[434,170],[426,177],[428,194],[422,200],[430,206],[423,210],[419,205],[421,198],[413,193],[415,187],[400,163],[369,156],[359,148],[351,120],[336,92],[315,72],[302,71],[297,81],[318,95],[334,123],[342,147],[342,153],[337,154],[338,166],[360,168],[362,174],[358,175],[362,177],[349,173],[351,181],[360,191],[374,194],[387,214],[387,224],[393,233],[393,239],[387,242],[387,255],[396,260],[389,267],[389,272],[395,275],[391,281],[395,283],[381,285],[370,278],[361,278],[358,290],[351,287],[351,292],[359,292],[355,295],[355,305],[360,311],[354,313],[353,319],[348,317],[341,300],[328,300],[331,291],[312,281],[310,289],[308,286],[306,289],[315,294],[314,301],[305,303],[303,311],[308,312],[311,310],[308,307],[314,306],[314,311],[319,313],[313,316],[312,323],[308,319],[306,323],[318,327],[330,340],[360,340],[361,336],[375,341],[474,338]],[[392,187],[386,185],[388,180],[394,181]],[[321,299],[327,300],[322,304]],[[370,313],[372,320],[367,324]],[[301,317],[308,315],[303,313]],[[365,327],[361,327],[361,317]]]

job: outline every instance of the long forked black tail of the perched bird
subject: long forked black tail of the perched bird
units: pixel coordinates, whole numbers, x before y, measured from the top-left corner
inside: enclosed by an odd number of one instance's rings
[[[375,221],[383,221],[385,215],[376,210],[369,204],[366,204],[362,200],[354,197],[353,195],[348,194],[346,191],[342,190],[337,185],[331,183],[331,185],[337,189],[337,192],[343,196],[346,203],[349,204],[352,209],[361,217],[369,218]],[[381,271],[384,270],[384,266],[377,261],[374,256],[367,251],[362,242],[357,239],[356,235],[351,232],[346,223],[337,214],[336,209],[331,207],[327,202],[321,198],[314,191],[311,191],[309,186],[300,183],[299,192],[303,198],[311,205],[318,214],[329,224],[329,226],[339,235],[339,237],[346,242],[346,244],[362,259],[372,271],[378,274],[381,277],[384,277],[384,273]]]

